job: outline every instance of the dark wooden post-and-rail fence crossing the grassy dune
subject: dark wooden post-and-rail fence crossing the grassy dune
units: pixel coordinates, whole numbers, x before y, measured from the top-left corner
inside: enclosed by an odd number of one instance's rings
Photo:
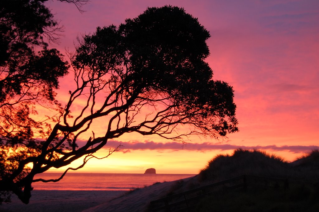
[[[198,200],[213,192],[220,191],[221,189],[231,188],[247,188],[247,186],[266,186],[278,187],[287,189],[293,184],[308,184],[313,185],[313,182],[304,182],[297,180],[288,180],[280,178],[259,177],[252,175],[241,175],[231,179],[226,179],[210,185],[191,189],[179,194],[170,195],[155,201],[151,201],[152,212],[179,212],[191,211],[195,207]]]

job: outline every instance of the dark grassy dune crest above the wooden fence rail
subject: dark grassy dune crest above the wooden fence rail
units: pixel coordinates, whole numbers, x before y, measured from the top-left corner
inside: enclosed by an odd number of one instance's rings
[[[319,169],[315,170],[315,165],[319,164],[319,151],[313,150],[298,160],[300,162],[294,165],[294,163],[287,163],[283,158],[264,151],[237,149],[232,155],[214,157],[199,173],[199,181],[217,182],[243,174],[318,181]],[[309,164],[311,168],[307,169]]]

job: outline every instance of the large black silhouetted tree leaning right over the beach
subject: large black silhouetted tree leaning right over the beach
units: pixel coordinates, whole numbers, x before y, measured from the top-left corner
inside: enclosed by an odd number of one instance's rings
[[[209,32],[184,9],[148,8],[119,27],[98,27],[78,39],[69,53],[74,90],[47,137],[34,138],[11,172],[0,181],[28,203],[32,182],[55,182],[85,165],[108,140],[125,133],[159,135],[183,142],[189,135],[218,138],[238,131],[233,89],[212,79],[204,59]],[[80,111],[77,105],[85,102]],[[71,113],[73,111],[73,113]],[[149,112],[151,111],[151,112]],[[94,123],[105,126],[92,134]],[[184,126],[179,131],[178,128]],[[110,149],[109,154],[118,150]],[[31,149],[31,150],[30,150]],[[105,157],[107,157],[106,155]],[[58,179],[34,179],[49,168],[61,168],[83,157]],[[27,168],[31,163],[32,168]],[[22,190],[23,189],[23,190]]]

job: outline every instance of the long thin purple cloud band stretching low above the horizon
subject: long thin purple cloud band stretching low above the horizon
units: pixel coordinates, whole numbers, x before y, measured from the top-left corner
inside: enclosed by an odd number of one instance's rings
[[[319,146],[310,145],[267,145],[267,146],[242,146],[242,145],[231,145],[231,144],[221,144],[221,143],[187,143],[182,144],[179,142],[168,142],[168,143],[155,143],[153,141],[130,141],[130,142],[120,142],[120,141],[108,141],[108,147],[116,147],[119,144],[123,145],[121,151],[123,153],[130,152],[131,150],[190,150],[190,151],[210,151],[210,150],[234,150],[234,149],[259,149],[259,150],[273,150],[273,151],[289,151],[293,153],[308,152],[314,149],[319,149]]]

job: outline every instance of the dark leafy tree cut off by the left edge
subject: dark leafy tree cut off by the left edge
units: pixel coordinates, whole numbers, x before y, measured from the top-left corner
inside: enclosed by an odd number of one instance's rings
[[[64,0],[61,0],[62,2]],[[0,2],[0,179],[10,178],[20,160],[38,155],[35,137],[47,137],[49,122],[56,118],[33,120],[36,106],[63,111],[54,91],[58,78],[68,73],[68,62],[49,42],[57,43],[63,27],[38,0]],[[87,0],[67,0],[79,9]],[[25,169],[19,174],[26,174]],[[16,181],[14,179],[14,181]],[[2,184],[1,184],[2,185]],[[1,186],[0,203],[10,194]]]

